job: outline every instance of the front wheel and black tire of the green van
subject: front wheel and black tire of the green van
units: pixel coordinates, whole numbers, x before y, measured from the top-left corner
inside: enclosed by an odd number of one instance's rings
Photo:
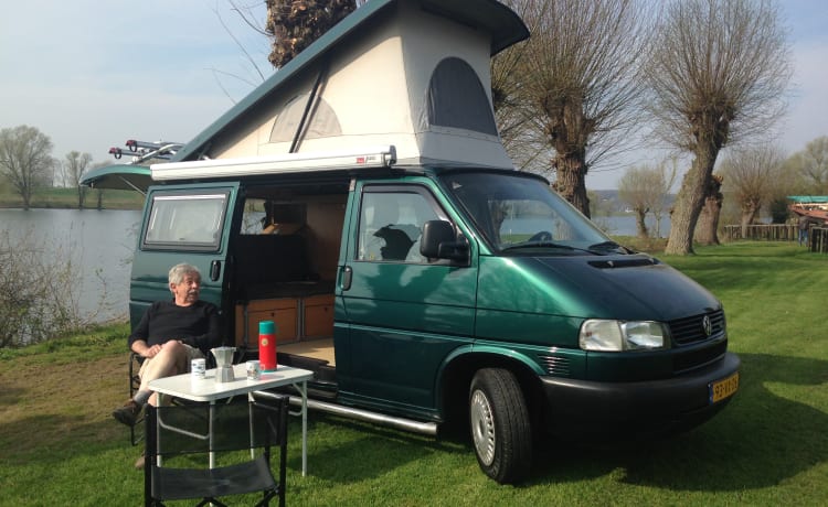
[[[471,443],[480,470],[500,484],[523,479],[532,465],[532,431],[523,391],[501,368],[475,374],[469,389]]]

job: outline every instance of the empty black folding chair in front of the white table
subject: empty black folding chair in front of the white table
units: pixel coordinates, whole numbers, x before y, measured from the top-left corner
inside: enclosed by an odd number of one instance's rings
[[[287,416],[287,397],[267,402],[148,407],[145,505],[198,498],[198,506],[226,506],[219,498],[262,492],[257,506],[278,497],[284,507]],[[270,470],[270,447],[279,449],[278,482]],[[209,468],[210,452],[221,453],[222,461],[234,464]],[[163,465],[159,465],[159,456]],[[192,467],[198,463],[203,466]]]

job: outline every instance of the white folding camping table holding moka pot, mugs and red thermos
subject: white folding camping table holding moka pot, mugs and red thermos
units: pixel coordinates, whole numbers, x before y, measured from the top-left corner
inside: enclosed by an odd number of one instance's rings
[[[255,391],[293,385],[301,393],[301,475],[308,470],[308,389],[307,382],[314,378],[314,373],[291,366],[279,366],[275,371],[262,371],[258,380],[247,380],[247,369],[244,364],[233,366],[232,382],[216,382],[215,368],[206,370],[205,378],[193,379],[191,374],[158,378],[149,382],[149,388],[158,393],[158,404],[164,396],[172,396],[191,401],[208,401],[215,404],[216,400],[232,398],[236,395],[247,395],[253,399]],[[212,431],[212,424],[211,424]],[[210,467],[215,466],[215,457],[210,453]]]

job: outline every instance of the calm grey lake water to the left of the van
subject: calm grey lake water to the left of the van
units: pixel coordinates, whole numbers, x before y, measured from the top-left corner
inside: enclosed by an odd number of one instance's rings
[[[70,257],[81,267],[81,315],[106,322],[127,317],[140,219],[138,211],[0,209],[0,230]]]

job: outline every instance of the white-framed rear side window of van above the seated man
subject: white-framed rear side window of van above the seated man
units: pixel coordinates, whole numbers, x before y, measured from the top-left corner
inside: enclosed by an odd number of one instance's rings
[[[142,246],[160,250],[217,250],[226,202],[226,193],[153,195]]]

